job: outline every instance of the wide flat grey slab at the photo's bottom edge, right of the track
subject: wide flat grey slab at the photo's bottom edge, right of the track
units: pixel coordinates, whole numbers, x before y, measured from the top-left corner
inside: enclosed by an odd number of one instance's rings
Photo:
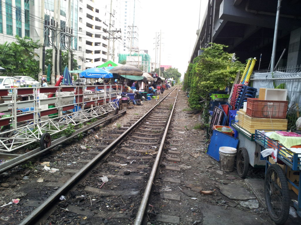
[[[220,206],[201,204],[202,225],[255,225],[262,221],[259,216],[236,208],[224,209]]]

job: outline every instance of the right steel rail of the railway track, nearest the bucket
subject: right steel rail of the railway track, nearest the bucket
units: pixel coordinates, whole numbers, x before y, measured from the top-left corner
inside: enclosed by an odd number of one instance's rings
[[[178,89],[178,92],[177,92],[177,96],[175,97],[175,102],[177,101],[178,93],[179,93],[179,89]],[[173,107],[172,107],[172,110],[171,110],[171,113],[170,113],[170,116],[169,116],[169,120],[166,124],[166,129],[164,131],[164,134],[163,134],[163,137],[162,137],[162,140],[161,140],[161,144],[160,144],[160,147],[158,149],[157,157],[155,159],[154,166],[153,166],[153,169],[151,171],[150,178],[147,182],[147,185],[146,185],[146,188],[145,188],[145,191],[144,191],[141,203],[140,203],[140,207],[139,207],[134,225],[140,225],[142,223],[143,216],[144,216],[144,213],[145,213],[145,209],[146,209],[146,206],[147,206],[147,202],[148,202],[149,196],[151,194],[151,189],[153,187],[154,178],[155,178],[155,175],[157,173],[157,168],[158,168],[158,165],[159,165],[159,161],[160,161],[160,158],[161,158],[161,155],[162,155],[162,152],[163,152],[163,147],[164,147],[164,144],[165,144],[165,139],[166,139],[166,136],[167,136],[167,131],[168,131],[168,128],[169,128],[169,124],[170,124],[170,121],[171,121],[171,118],[172,118],[172,113],[175,109],[175,102],[173,104]]]

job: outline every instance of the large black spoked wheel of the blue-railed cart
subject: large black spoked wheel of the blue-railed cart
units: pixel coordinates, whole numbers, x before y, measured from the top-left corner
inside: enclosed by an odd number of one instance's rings
[[[265,204],[271,219],[283,224],[290,211],[290,196],[282,168],[273,164],[268,167],[264,179]]]

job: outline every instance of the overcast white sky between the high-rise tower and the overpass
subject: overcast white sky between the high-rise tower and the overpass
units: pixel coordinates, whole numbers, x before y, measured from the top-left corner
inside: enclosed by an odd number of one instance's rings
[[[199,17],[201,23],[208,1],[140,0],[140,2],[139,49],[147,49],[148,54],[154,59],[154,38],[156,32],[160,33],[161,30],[161,65],[172,65],[184,76],[197,39]]]

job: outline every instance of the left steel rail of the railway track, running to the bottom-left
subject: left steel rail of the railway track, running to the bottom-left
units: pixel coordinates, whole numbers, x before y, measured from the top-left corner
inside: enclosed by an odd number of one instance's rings
[[[41,214],[52,202],[57,200],[68,187],[74,184],[80,177],[85,175],[85,173],[96,164],[104,155],[106,155],[111,149],[113,149],[119,143],[122,143],[123,139],[149,114],[153,111],[175,88],[173,88],[164,98],[162,98],[154,107],[147,111],[144,116],[138,119],[132,126],[130,126],[126,131],[124,131],[116,140],[110,143],[105,149],[101,151],[97,156],[95,156],[88,164],[86,164],[82,169],[79,170],[75,175],[73,175],[63,186],[52,193],[41,205],[35,208],[28,216],[26,216],[19,225],[29,225],[33,224],[34,219]]]

